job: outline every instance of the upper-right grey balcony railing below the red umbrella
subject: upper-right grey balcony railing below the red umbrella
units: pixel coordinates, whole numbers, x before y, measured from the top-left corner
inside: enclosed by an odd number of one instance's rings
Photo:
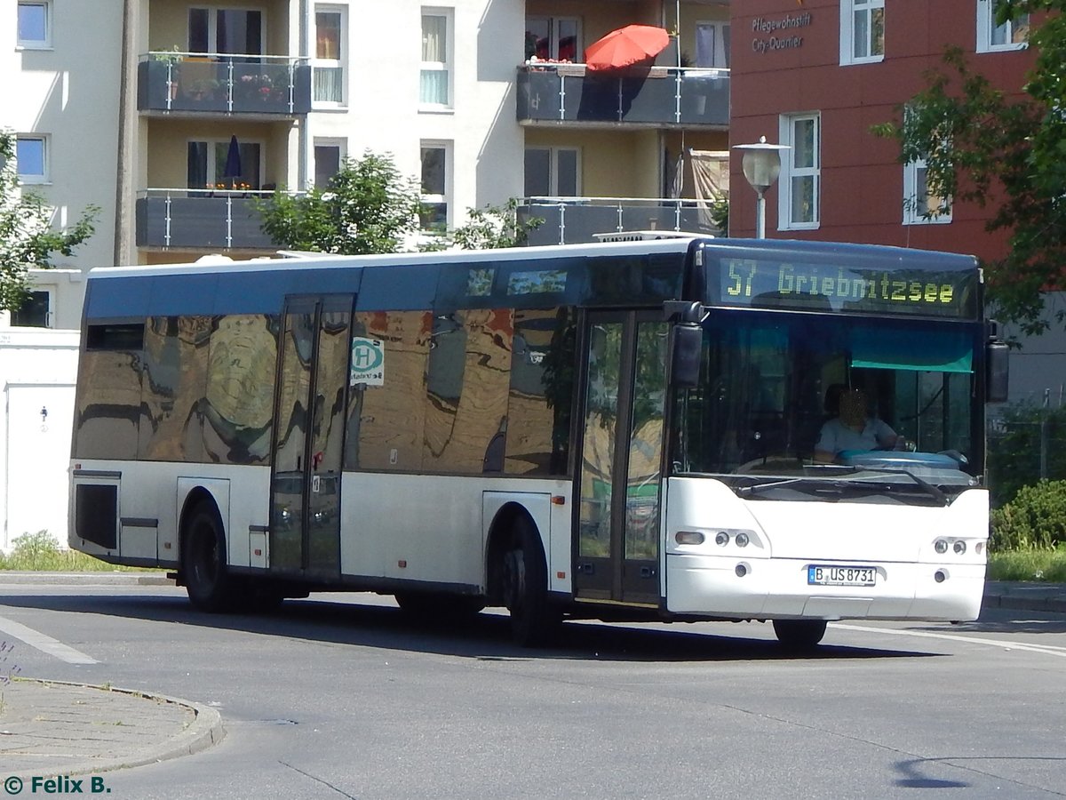
[[[518,67],[518,122],[729,125],[729,70],[650,67],[587,73],[584,64]]]

